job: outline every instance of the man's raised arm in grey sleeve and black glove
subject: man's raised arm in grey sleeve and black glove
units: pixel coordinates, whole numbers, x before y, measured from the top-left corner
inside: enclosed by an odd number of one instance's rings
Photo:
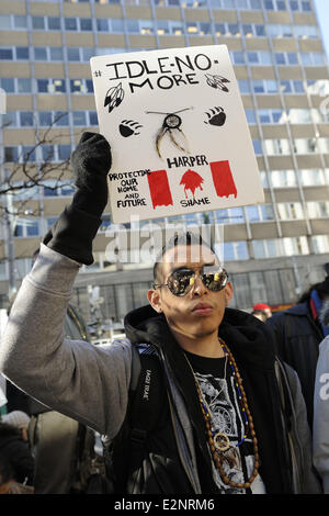
[[[71,162],[78,190],[18,293],[0,346],[0,370],[52,408],[115,435],[127,403],[131,346],[67,340],[63,329],[79,267],[93,261],[92,239],[107,202],[110,145],[84,133]]]

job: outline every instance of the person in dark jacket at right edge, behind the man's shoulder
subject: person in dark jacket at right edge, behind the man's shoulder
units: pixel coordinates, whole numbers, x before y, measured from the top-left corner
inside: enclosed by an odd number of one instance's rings
[[[275,336],[279,357],[295,369],[299,377],[310,428],[319,344],[329,335],[329,328],[321,323],[319,315],[328,299],[329,276],[313,284],[294,306],[274,314],[265,323]]]

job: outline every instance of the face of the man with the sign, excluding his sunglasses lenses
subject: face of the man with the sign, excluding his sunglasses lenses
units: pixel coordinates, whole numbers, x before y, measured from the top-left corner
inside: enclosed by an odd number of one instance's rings
[[[191,338],[217,332],[232,289],[227,283],[222,291],[213,292],[203,284],[198,276],[204,268],[216,266],[219,269],[216,256],[207,246],[177,246],[164,254],[157,283],[167,283],[170,274],[179,269],[192,269],[196,272],[192,289],[183,296],[172,294],[167,285],[148,293],[151,305],[159,313],[163,312],[173,332]]]

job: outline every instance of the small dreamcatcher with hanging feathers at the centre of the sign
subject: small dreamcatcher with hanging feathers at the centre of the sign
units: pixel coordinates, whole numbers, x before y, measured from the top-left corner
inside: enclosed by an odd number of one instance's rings
[[[172,144],[177,148],[179,148],[183,153],[190,154],[188,138],[186,138],[185,134],[183,133],[183,131],[181,130],[182,119],[178,115],[178,113],[182,113],[183,111],[188,111],[188,110],[192,110],[192,109],[193,108],[184,108],[183,110],[174,111],[172,113],[162,113],[162,112],[159,112],[159,111],[146,111],[147,114],[163,114],[163,115],[166,115],[166,117],[162,122],[162,126],[159,130],[159,132],[157,134],[157,138],[156,138],[156,148],[157,148],[158,156],[160,158],[162,158],[161,152],[160,152],[160,146],[161,146],[162,138],[166,134],[169,135]],[[182,137],[182,139],[183,139],[182,143],[178,142],[178,136]]]

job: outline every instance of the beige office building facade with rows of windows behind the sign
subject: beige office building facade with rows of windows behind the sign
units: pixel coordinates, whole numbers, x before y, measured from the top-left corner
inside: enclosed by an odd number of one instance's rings
[[[9,207],[0,235],[3,303],[10,282],[15,277],[19,284],[29,272],[42,236],[72,195],[69,166],[57,170],[56,164],[69,158],[83,131],[98,132],[90,57],[192,45],[228,46],[265,203],[160,223],[224,225],[224,260],[234,304],[241,309],[259,301],[293,303],[324,278],[329,70],[311,0],[1,0],[0,29],[0,87],[7,100],[1,183],[18,162],[11,178],[18,187],[26,180],[26,161],[37,175],[45,160],[54,169],[29,189],[10,194],[2,188],[2,209]],[[36,141],[43,143],[35,147]],[[78,277],[76,302],[89,316],[91,287],[100,285],[103,316],[117,321],[145,302],[151,263],[109,260],[109,229],[105,215],[95,262]]]

